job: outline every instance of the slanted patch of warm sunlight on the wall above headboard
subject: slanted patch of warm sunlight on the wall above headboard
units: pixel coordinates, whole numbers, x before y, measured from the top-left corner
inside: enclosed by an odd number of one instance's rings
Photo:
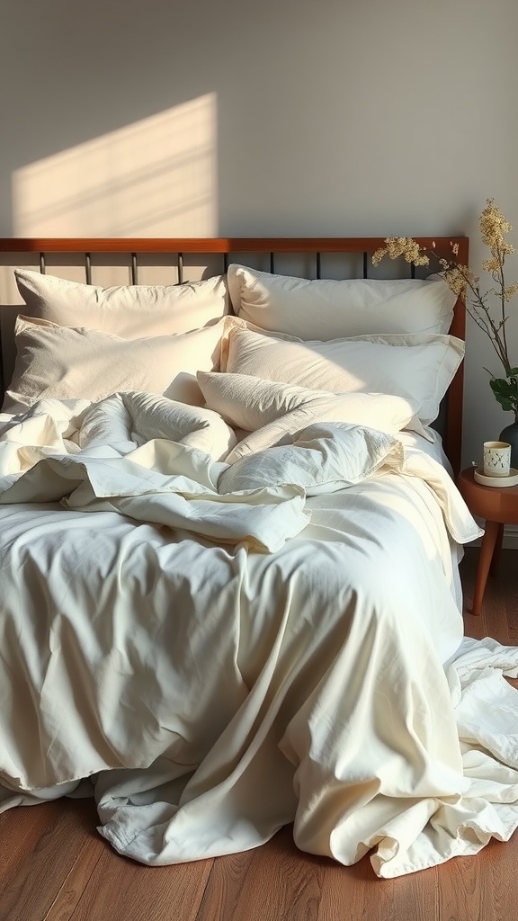
[[[216,133],[209,93],[18,169],[14,235],[215,236]]]

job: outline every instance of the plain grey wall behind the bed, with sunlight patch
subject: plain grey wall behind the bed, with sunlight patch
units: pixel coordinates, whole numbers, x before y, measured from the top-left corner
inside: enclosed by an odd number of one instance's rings
[[[1,0],[0,20],[2,236],[466,233],[478,271],[486,198],[518,224],[516,0]],[[484,366],[470,323],[466,462],[511,421]]]

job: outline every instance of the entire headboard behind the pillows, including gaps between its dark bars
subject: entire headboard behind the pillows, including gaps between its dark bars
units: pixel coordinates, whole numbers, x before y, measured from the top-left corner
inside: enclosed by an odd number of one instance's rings
[[[421,246],[433,245],[438,256],[451,257],[452,244],[458,259],[468,264],[466,237],[415,237]],[[375,269],[371,255],[384,245],[382,237],[327,238],[98,238],[98,239],[0,239],[0,352],[2,390],[14,364],[13,329],[22,305],[12,268],[39,268],[75,281],[101,286],[128,284],[180,284],[227,270],[241,262],[266,272],[303,278],[389,278],[418,275],[404,261],[383,261]],[[465,309],[457,301],[453,335],[465,338]],[[453,471],[460,469],[462,449],[463,367],[459,368],[443,401],[437,427]]]

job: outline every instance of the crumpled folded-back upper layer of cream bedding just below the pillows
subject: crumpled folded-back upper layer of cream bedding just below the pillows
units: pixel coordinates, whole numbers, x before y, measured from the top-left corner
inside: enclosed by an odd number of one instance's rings
[[[323,424],[317,411],[313,421],[308,412],[310,424],[292,444],[226,464],[206,450],[210,425],[197,428],[191,421],[179,437],[179,416],[207,411],[140,392],[114,394],[86,408],[85,402],[67,408],[45,400],[0,419],[2,503],[60,500],[68,508],[114,510],[272,552],[309,523],[308,495],[397,468],[430,486],[454,540],[473,540],[479,532],[440,464],[418,452],[405,457],[397,438],[368,427]],[[217,420],[212,428],[229,428],[218,414],[210,417]],[[168,424],[177,438],[161,437]],[[212,443],[219,453],[221,438]]]

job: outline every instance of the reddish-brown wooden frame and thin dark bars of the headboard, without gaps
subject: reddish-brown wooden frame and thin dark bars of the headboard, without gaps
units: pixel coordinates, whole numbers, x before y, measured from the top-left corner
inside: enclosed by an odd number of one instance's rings
[[[433,245],[438,256],[451,257],[452,244],[458,247],[458,260],[468,264],[469,240],[466,237],[415,237],[421,246],[430,249]],[[276,271],[276,257],[279,255],[295,254],[312,258],[314,272],[312,277],[325,277],[321,274],[322,256],[324,254],[347,254],[354,259],[353,274],[344,274],[342,277],[374,277],[371,267],[371,255],[384,245],[383,237],[294,237],[294,238],[187,238],[187,239],[158,239],[158,238],[3,238],[0,239],[0,258],[3,264],[16,265],[22,256],[27,259],[27,254],[35,254],[35,261],[39,264],[40,271],[47,270],[47,256],[53,253],[81,254],[84,264],[85,281],[92,281],[92,256],[100,254],[117,254],[129,260],[129,273],[131,284],[138,284],[138,258],[142,254],[156,254],[160,256],[176,257],[176,281],[183,281],[183,265],[185,255],[208,255],[221,258],[219,271],[226,271],[230,262],[248,264],[247,255],[257,254],[266,257],[268,262],[261,267],[265,271]],[[6,259],[8,254],[8,259]],[[388,262],[388,261],[387,261]],[[405,273],[413,275],[414,267],[404,263]],[[388,270],[388,265],[385,266]],[[49,267],[53,272],[52,266]],[[433,271],[434,267],[428,270]],[[282,274],[291,274],[288,271]],[[210,272],[209,274],[215,274]],[[379,273],[377,277],[382,277]],[[336,277],[336,276],[334,276]],[[465,338],[465,309],[462,300],[455,305],[451,331],[460,339]],[[0,339],[0,350],[2,342]],[[462,419],[463,419],[464,374],[463,367],[459,368],[453,383],[444,400],[443,420],[441,418],[441,434],[444,449],[452,463],[453,472],[457,473],[461,466],[462,449]]]

